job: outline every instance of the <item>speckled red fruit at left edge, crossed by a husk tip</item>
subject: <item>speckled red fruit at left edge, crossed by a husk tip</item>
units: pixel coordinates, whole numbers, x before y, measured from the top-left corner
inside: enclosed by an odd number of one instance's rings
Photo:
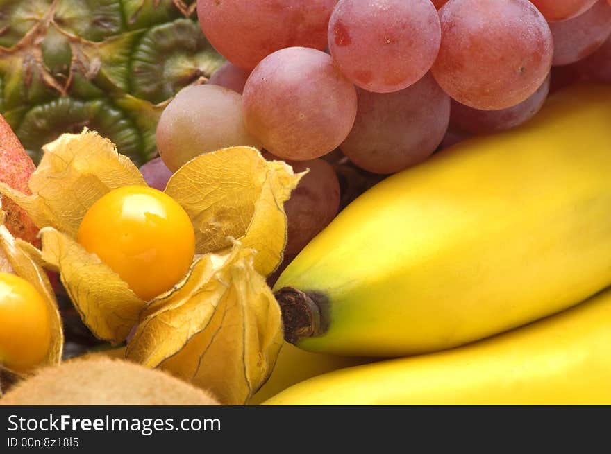
[[[31,194],[28,180],[35,169],[36,166],[24,150],[24,146],[12,132],[4,117],[0,115],[0,182],[24,194]],[[2,197],[2,209],[6,212],[5,225],[9,232],[37,245],[38,228],[25,211],[4,196]]]

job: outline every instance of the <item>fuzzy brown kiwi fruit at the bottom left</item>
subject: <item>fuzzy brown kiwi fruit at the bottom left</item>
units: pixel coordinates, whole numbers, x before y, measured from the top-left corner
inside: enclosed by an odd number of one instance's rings
[[[211,394],[156,369],[112,358],[44,367],[0,405],[220,405]]]

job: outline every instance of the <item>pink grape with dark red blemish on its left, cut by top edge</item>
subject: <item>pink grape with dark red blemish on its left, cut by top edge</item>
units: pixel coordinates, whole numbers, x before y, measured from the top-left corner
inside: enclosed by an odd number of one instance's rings
[[[368,91],[409,87],[430,69],[441,40],[430,0],[340,0],[329,21],[329,50],[342,72]]]

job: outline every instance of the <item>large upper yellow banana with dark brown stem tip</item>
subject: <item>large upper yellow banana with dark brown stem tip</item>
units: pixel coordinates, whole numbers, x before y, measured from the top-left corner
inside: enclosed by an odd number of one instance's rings
[[[278,279],[285,338],[340,355],[439,351],[605,288],[610,125],[611,87],[571,87],[521,128],[374,186]]]

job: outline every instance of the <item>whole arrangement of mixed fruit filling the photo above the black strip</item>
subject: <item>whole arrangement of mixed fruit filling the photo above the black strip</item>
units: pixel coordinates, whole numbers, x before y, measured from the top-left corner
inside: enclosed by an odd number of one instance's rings
[[[0,405],[611,403],[611,1],[5,3]]]

